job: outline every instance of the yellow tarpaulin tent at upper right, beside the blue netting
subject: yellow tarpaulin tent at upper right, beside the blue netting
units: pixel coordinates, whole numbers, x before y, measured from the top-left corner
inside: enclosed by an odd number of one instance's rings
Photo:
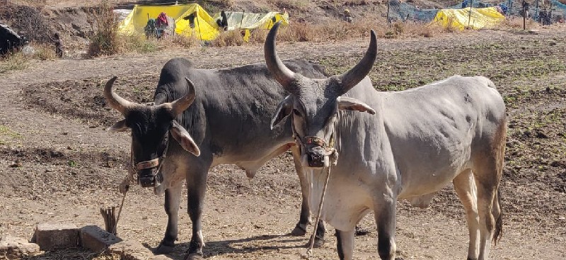
[[[470,15],[471,9],[471,15]],[[432,23],[439,23],[441,26],[456,27],[460,30],[468,27],[480,29],[485,27],[493,27],[505,20],[505,16],[495,9],[495,7],[487,8],[466,8],[466,9],[441,9],[437,16],[434,16]]]

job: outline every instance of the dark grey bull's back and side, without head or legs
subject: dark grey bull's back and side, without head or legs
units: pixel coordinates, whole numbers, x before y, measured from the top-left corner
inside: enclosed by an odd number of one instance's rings
[[[177,62],[186,65],[183,60]],[[305,60],[285,63],[308,77],[325,77],[323,67],[317,64]],[[287,93],[272,78],[265,63],[171,71],[166,74],[175,74],[171,78],[176,82],[174,88],[180,91],[170,99],[183,96],[184,77],[191,79],[197,89],[195,102],[183,113],[181,123],[197,144],[224,157],[225,162],[253,161],[292,141],[289,122],[270,128],[271,117]]]

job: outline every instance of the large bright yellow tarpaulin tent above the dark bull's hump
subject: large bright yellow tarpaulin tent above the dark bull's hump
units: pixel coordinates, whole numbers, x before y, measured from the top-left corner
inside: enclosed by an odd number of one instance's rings
[[[167,16],[175,19],[175,33],[190,36],[195,35],[201,40],[213,40],[219,33],[216,22],[198,4],[179,4],[175,6],[134,6],[121,23],[119,33],[125,35],[144,35],[144,27],[149,18],[156,18],[159,13],[164,12]],[[194,23],[190,23],[188,16],[195,17]],[[187,18],[187,20],[183,19]]]

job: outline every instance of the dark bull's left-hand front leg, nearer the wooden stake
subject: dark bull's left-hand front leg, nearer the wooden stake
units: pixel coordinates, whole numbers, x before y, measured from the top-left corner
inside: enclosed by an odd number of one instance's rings
[[[167,188],[165,191],[165,212],[167,213],[167,229],[165,236],[158,247],[154,249],[154,254],[169,254],[175,249],[175,240],[178,234],[178,216],[181,189],[183,181],[178,181],[175,186]]]

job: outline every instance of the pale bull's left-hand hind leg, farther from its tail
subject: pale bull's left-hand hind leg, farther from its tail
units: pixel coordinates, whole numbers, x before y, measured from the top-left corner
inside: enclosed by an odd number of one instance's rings
[[[480,231],[480,219],[478,215],[477,189],[471,170],[463,171],[454,179],[454,189],[460,198],[466,218],[468,220],[468,232],[470,243],[468,245],[468,260],[478,259],[478,232]]]

